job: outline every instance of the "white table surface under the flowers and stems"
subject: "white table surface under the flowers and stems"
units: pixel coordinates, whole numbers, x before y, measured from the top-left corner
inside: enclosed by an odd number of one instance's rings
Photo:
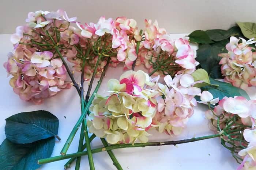
[[[186,34],[173,34],[173,38],[183,37]],[[31,102],[25,102],[19,99],[7,78],[7,72],[3,63],[7,60],[7,53],[12,51],[13,47],[9,41],[10,35],[0,35],[0,142],[5,139],[4,126],[5,118],[24,111],[47,110],[56,115],[59,119],[59,133],[61,141],[57,141],[53,149],[52,156],[60,155],[70,131],[80,116],[80,101],[74,87],[64,90],[45,100],[41,105],[34,105]],[[140,67],[143,68],[143,67]],[[135,70],[139,68],[135,67]],[[119,79],[123,72],[123,66],[109,68],[99,88],[99,94],[104,94],[107,90],[106,83],[110,78]],[[77,76],[78,78],[78,76]],[[96,81],[95,81],[96,82]],[[95,84],[94,84],[95,86]],[[85,86],[86,87],[86,86]],[[86,87],[87,88],[87,87]],[[255,88],[249,89],[249,95],[255,97]],[[208,120],[204,118],[204,111],[207,107],[199,104],[194,108],[194,115],[189,119],[187,128],[178,137],[170,137],[166,134],[160,134],[155,130],[150,130],[149,141],[171,141],[200,137],[213,134],[207,127]],[[64,118],[66,116],[66,118]],[[68,153],[75,153],[78,149],[79,133],[76,134]],[[91,144],[92,148],[102,147],[99,138],[95,138]],[[193,143],[181,144],[178,146],[150,146],[145,148],[127,148],[113,150],[123,169],[129,170],[234,170],[238,166],[229,150],[222,147],[220,139],[207,139]],[[1,154],[1,153],[0,153]],[[97,170],[112,170],[115,167],[109,158],[107,152],[93,154],[95,168]],[[48,163],[43,165],[41,170],[63,170],[63,165],[68,159]],[[75,169],[75,163],[71,170]],[[82,157],[81,170],[89,169],[88,159]]]

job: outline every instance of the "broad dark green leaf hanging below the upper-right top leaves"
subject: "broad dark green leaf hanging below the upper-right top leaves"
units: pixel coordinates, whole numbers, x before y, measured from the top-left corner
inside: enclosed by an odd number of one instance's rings
[[[225,50],[225,47],[212,47],[209,44],[203,44],[199,46],[196,51],[196,60],[200,63],[200,66],[210,74],[212,68],[218,65],[221,60],[218,54],[226,52]]]

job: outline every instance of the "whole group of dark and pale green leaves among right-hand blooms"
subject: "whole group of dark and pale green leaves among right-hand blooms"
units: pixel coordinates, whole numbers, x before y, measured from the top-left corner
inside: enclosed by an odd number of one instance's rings
[[[230,37],[242,37],[246,40],[256,37],[255,23],[238,22],[237,25],[238,26],[231,27],[228,30],[196,30],[188,35],[191,43],[198,44],[196,60],[200,63],[198,68],[204,69],[197,70],[197,72],[193,74],[193,77],[196,81],[204,80],[205,83],[197,84],[197,86],[200,86],[202,91],[207,90],[211,92],[214,98],[218,97],[222,99],[224,96],[244,96],[249,99],[248,94],[246,94],[244,90],[233,87],[229,83],[215,80],[223,78],[221,65],[219,65],[221,58],[218,54],[227,52],[226,44],[229,43]]]

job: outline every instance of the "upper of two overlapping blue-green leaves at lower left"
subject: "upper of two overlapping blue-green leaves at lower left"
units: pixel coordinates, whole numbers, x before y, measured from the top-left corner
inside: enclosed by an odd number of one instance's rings
[[[32,143],[49,137],[59,137],[59,120],[48,111],[21,112],[5,119],[6,138],[14,143]]]

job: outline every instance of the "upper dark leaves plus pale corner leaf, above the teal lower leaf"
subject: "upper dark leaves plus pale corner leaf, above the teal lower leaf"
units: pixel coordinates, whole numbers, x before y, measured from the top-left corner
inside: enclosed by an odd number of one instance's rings
[[[229,38],[235,36],[244,39],[256,37],[255,23],[237,23],[238,26],[231,27],[228,30],[209,29],[207,31],[196,30],[189,34],[191,43],[198,44],[197,58],[200,63],[198,68],[203,68],[213,79],[222,79],[221,65],[218,56],[220,53],[226,53],[226,44],[229,43]]]

